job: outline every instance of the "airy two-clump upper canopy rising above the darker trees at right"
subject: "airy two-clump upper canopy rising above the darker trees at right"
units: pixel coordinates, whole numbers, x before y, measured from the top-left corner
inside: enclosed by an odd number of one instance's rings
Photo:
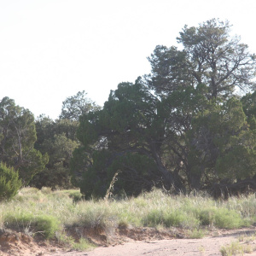
[[[158,45],[148,58],[152,74],[148,84],[159,94],[169,95],[177,88],[205,84],[207,98],[230,96],[236,88],[255,88],[256,56],[240,37],[230,37],[230,23],[207,20],[200,26],[184,26],[177,47]]]

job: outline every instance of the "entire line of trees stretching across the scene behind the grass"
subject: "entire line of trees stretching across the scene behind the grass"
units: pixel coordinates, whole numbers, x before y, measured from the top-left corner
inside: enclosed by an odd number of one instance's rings
[[[59,119],[0,102],[0,160],[25,185],[90,196],[160,187],[213,195],[256,189],[256,57],[230,24],[184,26],[182,49],[156,46],[152,72],[121,83],[103,108],[79,92]]]

